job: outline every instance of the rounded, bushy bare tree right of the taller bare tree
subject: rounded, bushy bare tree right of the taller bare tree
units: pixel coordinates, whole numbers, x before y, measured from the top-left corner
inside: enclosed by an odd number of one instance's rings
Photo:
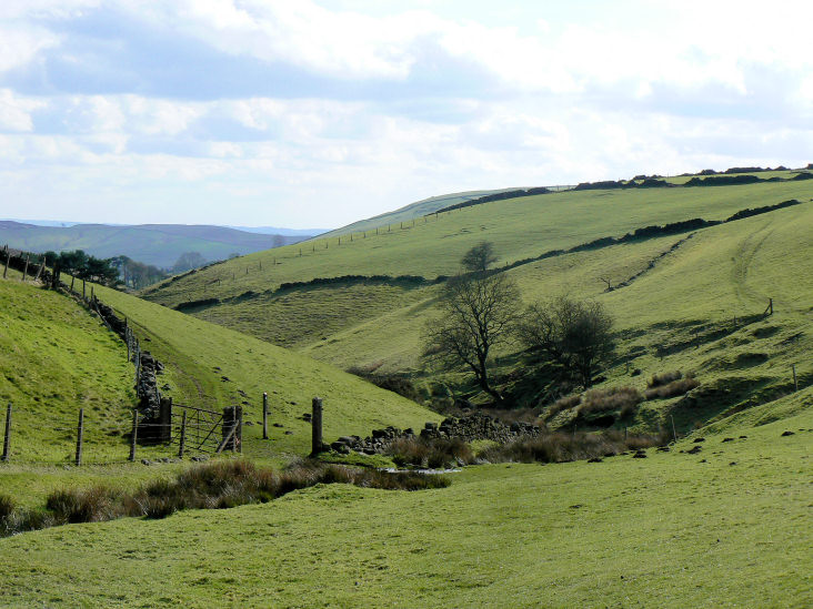
[[[559,296],[528,307],[519,324],[519,337],[586,388],[613,352],[612,326],[612,316],[601,303]]]

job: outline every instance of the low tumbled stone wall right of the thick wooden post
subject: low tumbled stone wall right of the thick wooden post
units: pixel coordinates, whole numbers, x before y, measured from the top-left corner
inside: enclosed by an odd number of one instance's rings
[[[385,453],[387,448],[399,439],[451,439],[459,438],[463,441],[489,439],[498,443],[506,443],[525,436],[539,436],[541,429],[530,423],[514,422],[505,424],[490,417],[481,412],[473,412],[462,417],[449,417],[438,425],[429,422],[416,436],[410,429],[401,430],[398,427],[385,427],[373,429],[372,434],[362,439],[360,436],[342,436],[330,445],[330,448],[338,453],[348,454],[351,450],[365,455]]]

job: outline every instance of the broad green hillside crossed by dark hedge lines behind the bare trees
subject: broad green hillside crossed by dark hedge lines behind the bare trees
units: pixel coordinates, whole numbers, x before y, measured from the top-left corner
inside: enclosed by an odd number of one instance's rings
[[[253,254],[165,282],[144,296],[168,306],[192,301],[184,311],[194,316],[343,368],[409,372],[429,380],[439,371],[420,355],[423,327],[434,315],[432,282],[453,274],[460,256],[488,240],[500,254],[498,265],[516,264],[508,273],[525,302],[566,291],[608,306],[620,331],[609,384],[629,383],[628,366],[642,371],[632,380],[640,388],[668,369],[705,375],[709,393],[701,402],[716,405],[675,412],[689,429],[749,400],[780,395],[792,364],[810,382],[813,368],[802,355],[813,346],[813,303],[805,296],[813,293],[812,184],[586,190],[498,201],[430,216],[414,227],[357,234],[352,242],[344,236],[341,245],[339,237],[318,240],[301,256],[299,246]],[[721,221],[794,199],[800,204],[719,225],[528,260],[649,225]],[[314,277],[335,280],[308,284]],[[602,278],[615,288],[606,292]],[[775,315],[762,319],[770,297]],[[514,365],[511,351],[495,354],[506,357],[499,372]],[[445,375],[445,382],[463,395],[471,392],[462,376]],[[655,404],[649,425],[659,425],[675,404]]]

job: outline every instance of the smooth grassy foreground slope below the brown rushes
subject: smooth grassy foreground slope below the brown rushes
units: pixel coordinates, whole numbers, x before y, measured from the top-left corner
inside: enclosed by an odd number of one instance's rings
[[[810,607],[812,398],[700,455],[480,466],[442,490],[320,486],[0,539],[2,603]]]

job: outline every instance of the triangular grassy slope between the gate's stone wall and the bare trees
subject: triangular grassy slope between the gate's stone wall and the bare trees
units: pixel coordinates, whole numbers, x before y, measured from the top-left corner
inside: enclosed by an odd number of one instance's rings
[[[271,420],[284,427],[271,428],[271,441],[261,439],[259,426],[245,427],[244,453],[252,457],[305,453],[310,424],[299,417],[310,412],[313,396],[324,398],[329,441],[345,434],[365,436],[374,427],[422,427],[438,419],[415,403],[329,364],[120,292],[97,287],[97,295],[127,315],[139,328],[137,334],[151,338],[144,348],[170,367],[174,385],[169,395],[178,403],[215,409],[248,403],[245,419],[257,422],[262,416],[262,393],[268,392]]]

